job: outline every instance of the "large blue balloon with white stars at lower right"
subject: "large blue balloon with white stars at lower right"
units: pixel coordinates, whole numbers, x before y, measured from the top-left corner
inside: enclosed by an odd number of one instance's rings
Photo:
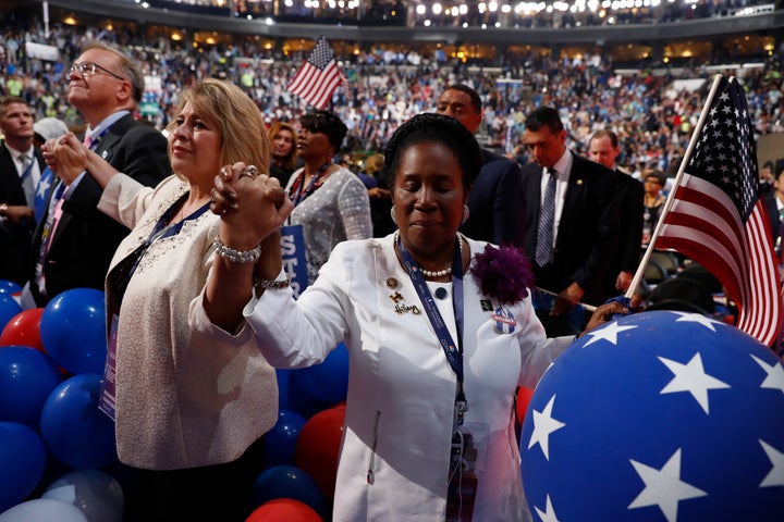
[[[784,366],[705,315],[642,312],[581,336],[520,434],[535,521],[784,521]]]

